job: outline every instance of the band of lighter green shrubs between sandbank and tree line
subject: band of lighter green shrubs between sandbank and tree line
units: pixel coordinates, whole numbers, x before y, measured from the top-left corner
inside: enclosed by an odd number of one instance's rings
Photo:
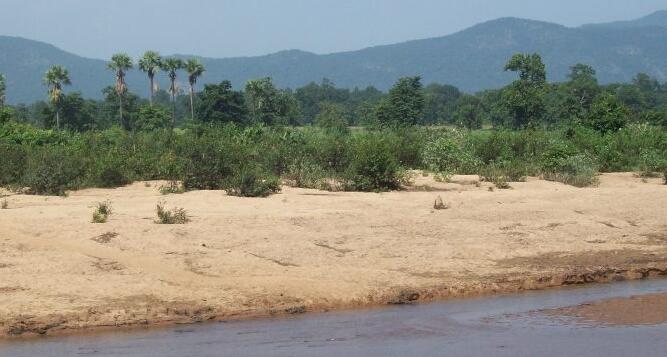
[[[0,185],[44,194],[169,180],[187,190],[265,196],[279,190],[280,178],[297,187],[383,191],[399,188],[408,169],[480,174],[500,186],[537,175],[585,185],[598,169],[663,172],[667,132],[645,124],[604,134],[578,124],[520,131],[205,124],[74,133],[12,122],[0,125],[0,158]]]

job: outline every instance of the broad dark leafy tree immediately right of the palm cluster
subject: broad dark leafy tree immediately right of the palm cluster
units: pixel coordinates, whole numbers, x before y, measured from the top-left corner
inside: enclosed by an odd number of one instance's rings
[[[243,93],[234,91],[231,82],[207,84],[199,97],[199,120],[207,123],[245,122],[247,109]]]

